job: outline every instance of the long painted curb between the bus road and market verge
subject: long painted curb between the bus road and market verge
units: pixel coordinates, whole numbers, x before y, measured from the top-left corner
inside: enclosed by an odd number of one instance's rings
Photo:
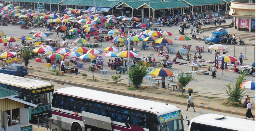
[[[36,75],[27,75],[27,76],[33,76],[36,77]],[[45,80],[54,80],[45,76],[40,76],[40,78],[45,79]],[[108,87],[97,87],[97,86],[91,86],[88,84],[83,84],[83,83],[76,83],[76,82],[71,82],[71,81],[65,81],[65,80],[58,80],[59,82],[63,82],[63,83],[69,83],[78,87],[87,87],[90,89],[96,89],[96,90],[103,90],[103,91],[110,91],[110,92],[114,92],[117,94],[125,94],[128,96],[134,96],[134,97],[140,97],[140,98],[146,98],[146,99],[153,99],[153,100],[159,100],[159,101],[163,101],[163,102],[170,102],[170,103],[175,103],[175,104],[180,104],[180,105],[187,105],[187,102],[181,102],[179,100],[173,100],[173,99],[167,99],[167,98],[162,98],[162,97],[157,97],[157,96],[150,96],[150,95],[146,95],[146,94],[140,94],[140,93],[135,93],[135,92],[131,92],[131,91],[123,91],[120,89],[111,89]],[[216,108],[216,107],[212,107],[212,106],[205,106],[205,105],[199,105],[199,104],[194,104],[195,107],[197,108],[202,108],[202,109],[206,109],[206,110],[214,110],[214,111],[218,111],[218,112],[223,112],[223,113],[229,113],[229,114],[236,114],[236,115],[241,115],[241,116],[245,116],[246,112],[240,112],[240,111],[234,111],[234,110],[227,110],[227,109],[222,109],[222,108]],[[255,115],[254,115],[255,118]]]

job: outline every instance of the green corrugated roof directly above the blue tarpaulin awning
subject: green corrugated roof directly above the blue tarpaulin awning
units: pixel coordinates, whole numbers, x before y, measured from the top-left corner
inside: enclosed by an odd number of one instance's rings
[[[120,1],[117,0],[96,0],[97,7],[114,7],[118,5]],[[62,2],[62,5],[79,5],[79,6],[94,6],[92,0],[66,0]]]

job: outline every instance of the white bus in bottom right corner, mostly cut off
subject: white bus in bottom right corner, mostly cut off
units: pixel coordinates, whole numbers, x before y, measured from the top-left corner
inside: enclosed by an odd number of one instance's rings
[[[190,121],[189,131],[255,131],[255,121],[204,114]]]

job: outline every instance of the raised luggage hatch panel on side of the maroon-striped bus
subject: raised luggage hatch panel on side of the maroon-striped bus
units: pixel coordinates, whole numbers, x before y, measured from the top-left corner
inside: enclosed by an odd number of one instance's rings
[[[85,117],[86,116],[86,117]],[[112,130],[110,117],[82,111],[83,124]]]

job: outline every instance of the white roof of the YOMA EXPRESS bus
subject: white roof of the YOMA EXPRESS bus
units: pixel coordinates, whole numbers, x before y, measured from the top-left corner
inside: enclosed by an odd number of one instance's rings
[[[53,86],[53,84],[48,82],[42,82],[35,79],[28,79],[20,76],[7,75],[0,73],[0,83],[5,83],[7,85],[13,85],[16,87],[23,87],[27,89],[37,89],[40,87]]]

